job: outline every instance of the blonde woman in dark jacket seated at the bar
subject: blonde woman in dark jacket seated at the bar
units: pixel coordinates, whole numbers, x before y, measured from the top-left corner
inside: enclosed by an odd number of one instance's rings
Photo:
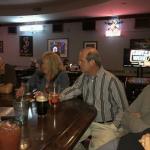
[[[48,92],[52,88],[52,85],[57,85],[59,92],[69,86],[69,78],[65,72],[61,58],[53,52],[45,52],[42,55],[42,63],[40,70],[28,81],[28,91],[33,90]],[[24,87],[21,87],[16,95],[21,96],[24,93]]]

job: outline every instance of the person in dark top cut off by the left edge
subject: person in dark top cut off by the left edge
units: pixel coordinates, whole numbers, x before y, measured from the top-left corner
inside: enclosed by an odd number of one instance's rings
[[[9,94],[16,86],[16,72],[0,57],[0,93]]]

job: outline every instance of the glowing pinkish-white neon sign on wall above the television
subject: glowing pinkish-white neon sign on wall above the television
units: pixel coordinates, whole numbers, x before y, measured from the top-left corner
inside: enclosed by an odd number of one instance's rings
[[[121,21],[118,18],[114,18],[105,22],[107,24],[105,35],[107,37],[120,36],[121,35]]]

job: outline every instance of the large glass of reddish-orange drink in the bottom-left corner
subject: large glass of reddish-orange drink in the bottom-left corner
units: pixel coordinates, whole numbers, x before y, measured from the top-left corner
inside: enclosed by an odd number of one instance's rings
[[[13,121],[0,122],[0,150],[19,150],[21,129]]]

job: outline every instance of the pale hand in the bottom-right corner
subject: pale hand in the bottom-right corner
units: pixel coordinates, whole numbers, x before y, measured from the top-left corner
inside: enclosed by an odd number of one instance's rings
[[[150,150],[150,133],[143,135],[139,142],[142,144],[145,150]]]

